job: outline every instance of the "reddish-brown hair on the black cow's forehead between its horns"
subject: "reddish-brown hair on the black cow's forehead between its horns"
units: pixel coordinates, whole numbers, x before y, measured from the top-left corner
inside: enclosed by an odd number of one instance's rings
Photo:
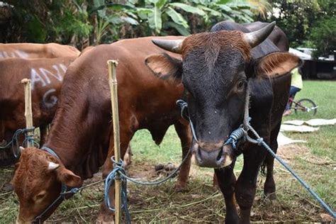
[[[185,58],[191,50],[202,47],[207,54],[218,55],[223,48],[238,50],[245,60],[250,60],[250,45],[243,38],[244,33],[236,30],[220,30],[212,33],[197,33],[184,39],[181,54]]]

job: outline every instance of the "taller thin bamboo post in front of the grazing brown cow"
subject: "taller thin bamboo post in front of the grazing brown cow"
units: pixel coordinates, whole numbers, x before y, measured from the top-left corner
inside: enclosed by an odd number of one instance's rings
[[[121,142],[119,133],[119,111],[118,111],[118,82],[116,77],[116,60],[108,60],[108,84],[111,90],[111,105],[112,105],[112,121],[113,121],[113,140],[114,140],[114,157],[116,162],[121,160]],[[115,209],[116,224],[121,223],[121,180],[116,179],[114,184],[115,190]]]

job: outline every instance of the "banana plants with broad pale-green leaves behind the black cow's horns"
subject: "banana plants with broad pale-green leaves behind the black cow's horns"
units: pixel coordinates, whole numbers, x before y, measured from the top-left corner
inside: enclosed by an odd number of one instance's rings
[[[173,28],[181,35],[189,35],[189,17],[196,16],[204,23],[203,30],[211,24],[230,19],[238,22],[253,21],[254,13],[264,13],[269,9],[267,0],[189,0],[173,2],[172,0],[135,1],[135,13],[145,21],[152,34],[162,34],[162,28]],[[140,21],[140,22],[141,22]]]

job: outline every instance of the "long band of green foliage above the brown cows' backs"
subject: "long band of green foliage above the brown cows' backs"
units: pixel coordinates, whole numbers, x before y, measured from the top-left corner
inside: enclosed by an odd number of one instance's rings
[[[269,6],[265,0],[7,2],[13,5],[13,17],[6,41],[72,43],[79,48],[144,35],[190,35],[226,19],[250,22]]]

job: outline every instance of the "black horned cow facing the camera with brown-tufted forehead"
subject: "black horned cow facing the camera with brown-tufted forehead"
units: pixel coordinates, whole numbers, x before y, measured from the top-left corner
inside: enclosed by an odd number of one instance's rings
[[[237,150],[225,145],[230,133],[242,124],[247,85],[251,125],[276,150],[291,83],[286,74],[301,65],[298,57],[279,52],[270,40],[265,40],[274,26],[270,23],[251,33],[218,30],[184,40],[153,40],[165,50],[180,53],[182,60],[169,55],[151,55],[146,60],[158,77],[172,84],[184,84],[197,138],[192,144],[196,163],[215,169],[225,198],[226,223],[250,222],[257,174],[267,155],[263,147],[249,142],[241,142]],[[240,153],[244,155],[244,165],[236,181],[233,167]],[[268,175],[267,181],[273,181],[273,176]]]

